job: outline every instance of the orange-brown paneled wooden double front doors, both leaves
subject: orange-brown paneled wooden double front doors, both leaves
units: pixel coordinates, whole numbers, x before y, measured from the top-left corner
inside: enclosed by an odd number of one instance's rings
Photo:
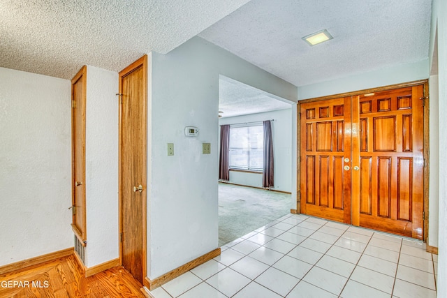
[[[300,207],[423,239],[423,85],[300,104]]]

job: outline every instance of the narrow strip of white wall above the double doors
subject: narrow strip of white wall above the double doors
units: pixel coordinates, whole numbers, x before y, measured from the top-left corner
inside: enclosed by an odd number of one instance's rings
[[[337,80],[298,87],[298,99],[342,94],[374,87],[425,80],[428,77],[428,59],[397,66],[390,66],[369,73],[360,73]]]

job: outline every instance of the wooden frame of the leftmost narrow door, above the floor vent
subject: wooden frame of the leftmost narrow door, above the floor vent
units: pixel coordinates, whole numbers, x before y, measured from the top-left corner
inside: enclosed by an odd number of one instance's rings
[[[71,79],[71,207],[73,208],[75,206],[75,109],[73,108],[73,100],[75,100],[75,88],[74,85],[80,77],[83,78],[84,82],[82,82],[82,98],[85,102],[84,110],[82,111],[84,114],[84,117],[87,116],[86,110],[87,110],[87,66],[82,66],[82,68],[76,73],[76,75]],[[82,164],[84,165],[82,169],[82,181],[85,184],[85,132],[86,132],[86,119],[84,119],[84,133],[81,136],[82,140]],[[85,187],[85,186],[84,186]],[[84,191],[84,195],[82,195],[82,204],[84,206],[84,216],[82,218],[82,225],[84,226],[84,230],[80,231],[75,226],[75,215],[72,215],[71,220],[71,229],[73,230],[73,233],[76,237],[80,240],[80,243],[82,246],[85,246],[87,243],[87,200],[86,200],[86,191]]]

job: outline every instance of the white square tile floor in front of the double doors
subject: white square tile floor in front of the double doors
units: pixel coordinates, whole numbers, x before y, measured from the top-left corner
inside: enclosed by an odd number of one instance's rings
[[[437,255],[392,234],[288,214],[151,293],[191,297],[436,297]]]

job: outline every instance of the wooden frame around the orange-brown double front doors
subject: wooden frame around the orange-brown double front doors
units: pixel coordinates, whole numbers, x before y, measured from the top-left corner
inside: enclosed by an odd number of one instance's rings
[[[428,79],[425,80],[417,80],[417,81],[413,81],[413,82],[405,82],[405,83],[401,83],[401,84],[393,84],[393,85],[388,85],[388,86],[383,86],[383,87],[376,87],[376,88],[371,88],[371,89],[362,89],[362,90],[358,90],[358,91],[351,91],[351,92],[346,92],[343,94],[333,94],[333,95],[329,95],[329,96],[321,96],[321,97],[316,97],[316,98],[309,98],[309,99],[305,99],[305,100],[298,100],[298,104],[297,104],[297,191],[296,191],[296,213],[299,214],[301,213],[301,189],[300,189],[300,183],[301,183],[301,173],[300,173],[300,167],[301,167],[301,161],[300,161],[300,156],[301,156],[301,152],[300,152],[300,145],[301,145],[301,133],[300,133],[300,125],[301,125],[301,117],[300,117],[300,110],[301,110],[301,104],[302,103],[313,103],[315,101],[320,101],[320,100],[329,100],[329,99],[335,99],[335,98],[341,98],[341,97],[346,97],[346,96],[357,96],[360,94],[369,94],[369,93],[374,93],[374,92],[380,92],[380,91],[388,91],[388,90],[392,90],[392,89],[400,89],[400,88],[404,88],[404,87],[414,87],[414,86],[418,86],[418,85],[423,85],[423,89],[424,89],[424,116],[423,116],[423,121],[424,121],[424,140],[423,140],[423,144],[424,144],[424,152],[423,152],[423,156],[424,156],[424,177],[423,177],[423,183],[424,183],[424,191],[423,191],[423,195],[424,195],[424,215],[423,215],[423,221],[424,221],[424,237],[423,237],[423,241],[427,242],[427,237],[428,237],[428,225],[429,225],[429,216],[428,216],[428,203],[429,203],[429,198],[428,198],[428,184],[429,184],[429,178],[430,178],[430,167],[429,167],[429,153],[430,153],[430,136],[429,136],[429,112],[430,112],[430,100],[429,99],[429,89],[428,89]]]

